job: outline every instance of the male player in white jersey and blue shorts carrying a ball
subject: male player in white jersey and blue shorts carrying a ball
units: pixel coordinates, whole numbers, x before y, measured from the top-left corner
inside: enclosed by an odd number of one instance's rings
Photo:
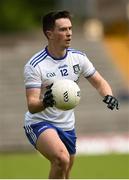
[[[24,128],[30,143],[50,161],[49,178],[68,179],[76,155],[74,109],[63,111],[54,106],[52,82],[77,82],[83,75],[109,109],[118,109],[118,101],[86,54],[70,48],[72,23],[68,11],[46,14],[42,26],[48,44],[24,68],[28,105]]]

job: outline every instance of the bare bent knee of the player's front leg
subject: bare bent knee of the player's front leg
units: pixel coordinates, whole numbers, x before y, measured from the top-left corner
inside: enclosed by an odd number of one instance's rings
[[[67,171],[70,163],[70,156],[67,153],[61,152],[53,160],[54,166],[60,171]]]

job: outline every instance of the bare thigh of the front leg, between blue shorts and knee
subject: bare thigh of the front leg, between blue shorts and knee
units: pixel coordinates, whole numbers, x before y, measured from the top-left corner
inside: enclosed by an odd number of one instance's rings
[[[69,153],[65,145],[54,129],[46,129],[40,134],[36,143],[36,148],[50,161],[61,154],[69,158]]]

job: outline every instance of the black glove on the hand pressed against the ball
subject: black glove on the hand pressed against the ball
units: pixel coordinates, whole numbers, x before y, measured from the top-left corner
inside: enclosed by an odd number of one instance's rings
[[[52,85],[47,87],[48,90],[44,94],[43,105],[45,108],[46,107],[53,107],[55,104],[55,101],[53,99],[52,89],[51,89]]]

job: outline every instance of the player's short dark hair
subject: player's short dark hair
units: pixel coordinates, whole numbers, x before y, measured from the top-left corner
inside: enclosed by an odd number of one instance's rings
[[[42,27],[45,35],[46,31],[54,29],[56,19],[60,18],[68,18],[71,20],[72,16],[68,11],[52,11],[42,18]]]

